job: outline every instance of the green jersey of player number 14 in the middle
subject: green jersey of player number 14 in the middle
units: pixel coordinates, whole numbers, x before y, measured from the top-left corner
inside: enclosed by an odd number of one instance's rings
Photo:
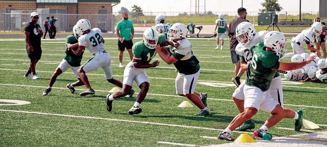
[[[158,36],[158,44],[163,47],[166,42],[166,36],[163,33],[159,33]],[[132,50],[135,56],[141,58],[141,63],[150,61],[157,54],[156,49],[150,49],[146,47],[143,40],[135,43],[132,47]]]

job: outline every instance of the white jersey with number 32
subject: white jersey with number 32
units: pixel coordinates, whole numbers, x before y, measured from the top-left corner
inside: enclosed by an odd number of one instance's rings
[[[78,45],[85,46],[91,54],[105,51],[102,44],[102,32],[99,28],[93,28],[89,33],[78,38]]]

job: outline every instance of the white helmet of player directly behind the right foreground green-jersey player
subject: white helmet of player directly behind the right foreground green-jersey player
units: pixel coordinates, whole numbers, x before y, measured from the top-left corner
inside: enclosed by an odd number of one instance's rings
[[[241,45],[250,44],[255,35],[255,29],[249,22],[241,22],[236,27],[236,39]]]

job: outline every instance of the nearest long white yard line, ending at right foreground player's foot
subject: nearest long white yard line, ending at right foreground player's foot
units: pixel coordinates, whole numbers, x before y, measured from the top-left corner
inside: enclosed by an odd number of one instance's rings
[[[156,123],[156,122],[148,122],[148,121],[134,121],[134,120],[124,120],[124,119],[109,119],[109,118],[97,118],[97,117],[87,117],[87,116],[75,116],[75,115],[65,115],[65,114],[53,114],[53,113],[30,112],[30,111],[16,111],[16,110],[3,110],[3,109],[0,109],[0,111],[16,112],[16,113],[28,113],[28,114],[53,115],[53,116],[63,116],[63,117],[72,117],[72,118],[103,119],[103,120],[111,120],[111,121],[124,121],[124,122],[155,124],[155,125],[172,126],[172,127],[182,127],[182,128],[194,128],[194,129],[223,131],[223,129],[195,127],[195,126],[185,126],[185,125],[176,125],[176,124],[167,124],[167,123]],[[234,131],[234,132],[238,132],[238,133],[249,133],[249,132],[242,132],[242,131]]]

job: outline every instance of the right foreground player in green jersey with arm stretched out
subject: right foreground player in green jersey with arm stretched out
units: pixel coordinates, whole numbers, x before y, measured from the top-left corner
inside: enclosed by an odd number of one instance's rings
[[[298,63],[279,62],[280,56],[286,51],[285,45],[284,35],[277,31],[268,32],[264,42],[256,45],[252,60],[247,68],[247,79],[243,90],[245,110],[237,115],[228,127],[218,135],[218,139],[234,140],[230,136],[231,131],[254,116],[259,109],[271,113],[272,116],[253,134],[264,140],[272,139],[272,136],[267,133],[268,128],[284,118],[282,106],[265,92],[269,89],[276,74],[274,70],[299,69],[314,59],[314,56],[311,56],[306,61]],[[302,111],[299,113],[302,114]],[[301,122],[302,117],[298,119]]]

